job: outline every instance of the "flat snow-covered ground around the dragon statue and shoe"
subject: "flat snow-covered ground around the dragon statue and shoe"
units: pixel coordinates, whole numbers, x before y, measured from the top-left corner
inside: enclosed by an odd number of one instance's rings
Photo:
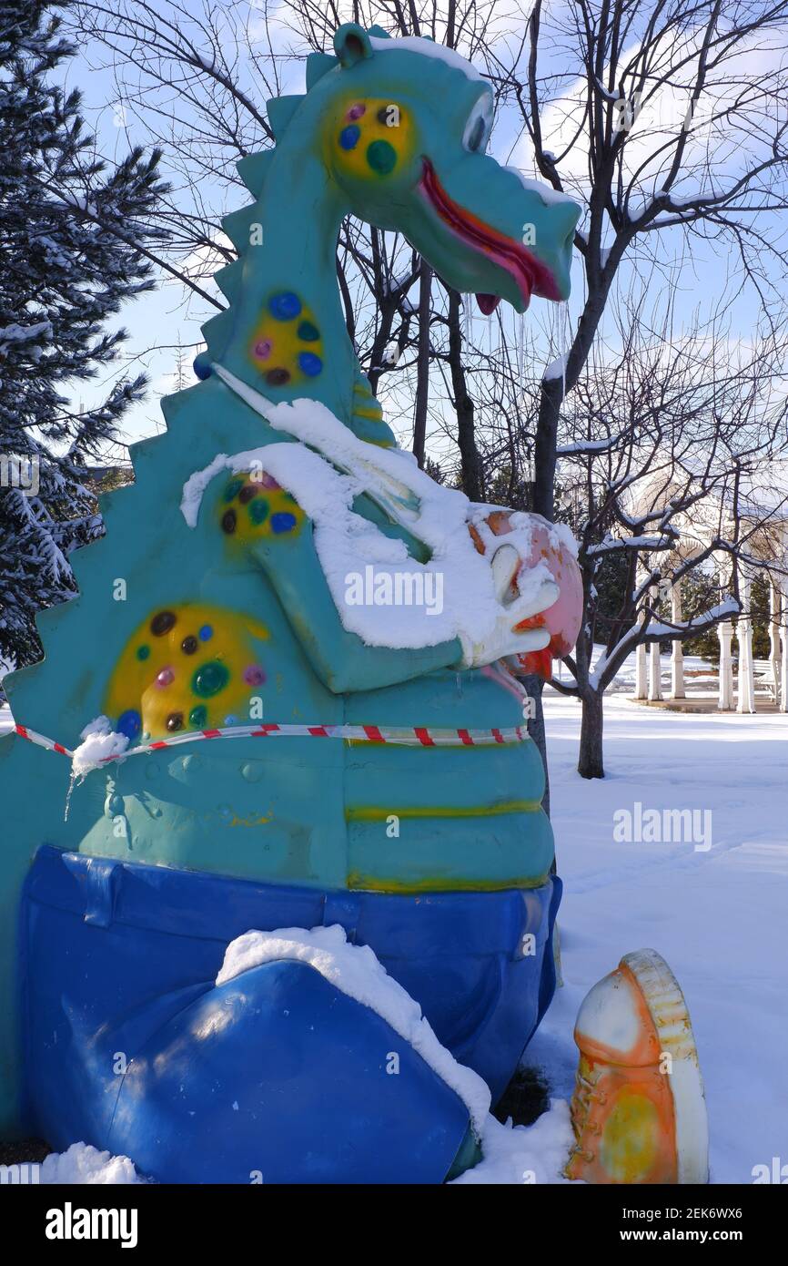
[[[751,1182],[754,1166],[772,1167],[773,1157],[788,1162],[788,718],[668,713],[612,695],[605,710],[607,777],[588,782],[576,772],[579,705],[548,691],[545,710],[565,885],[564,986],[526,1062],[544,1069],[555,1100],[530,1129],[488,1118],[487,1160],[459,1181],[560,1181],[577,1009],[624,953],[653,947],[689,1004],[712,1181]],[[4,719],[6,709],[0,729]],[[697,810],[702,832],[687,842],[617,842],[615,815],[626,810],[636,819],[637,804],[641,817],[649,809]],[[71,1181],[133,1180],[129,1162],[92,1150],[46,1163],[52,1175],[73,1175]]]

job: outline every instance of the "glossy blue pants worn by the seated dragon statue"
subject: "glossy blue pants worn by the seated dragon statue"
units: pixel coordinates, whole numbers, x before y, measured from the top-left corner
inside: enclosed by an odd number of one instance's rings
[[[339,923],[495,1101],[553,996],[559,900],[555,877],[527,891],[321,893],[43,847],[20,920],[29,1128],[166,1182],[440,1182],[467,1143],[457,1094],[307,965],[216,986],[226,944]]]

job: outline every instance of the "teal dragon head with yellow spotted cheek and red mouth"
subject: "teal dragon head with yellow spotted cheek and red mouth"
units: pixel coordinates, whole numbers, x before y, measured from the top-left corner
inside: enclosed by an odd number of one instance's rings
[[[482,311],[569,294],[579,208],[484,153],[492,90],[458,53],[355,23],[334,37],[324,157],[350,210],[402,232]],[[328,86],[328,85],[326,85]]]

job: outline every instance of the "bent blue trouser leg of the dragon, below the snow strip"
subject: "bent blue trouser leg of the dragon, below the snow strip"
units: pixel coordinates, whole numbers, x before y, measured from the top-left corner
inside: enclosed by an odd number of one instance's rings
[[[106,1147],[166,1182],[441,1182],[460,1099],[305,963],[207,989],[133,1056]]]

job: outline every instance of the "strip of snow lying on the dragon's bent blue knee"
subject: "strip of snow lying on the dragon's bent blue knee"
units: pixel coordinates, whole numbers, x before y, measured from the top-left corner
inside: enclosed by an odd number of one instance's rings
[[[388,975],[369,946],[349,944],[338,923],[311,932],[304,928],[245,932],[228,946],[216,984],[224,985],[242,971],[283,958],[309,963],[348,998],[377,1012],[459,1095],[477,1134],[482,1136],[489,1109],[487,1084],[440,1044],[419,1003]]]

